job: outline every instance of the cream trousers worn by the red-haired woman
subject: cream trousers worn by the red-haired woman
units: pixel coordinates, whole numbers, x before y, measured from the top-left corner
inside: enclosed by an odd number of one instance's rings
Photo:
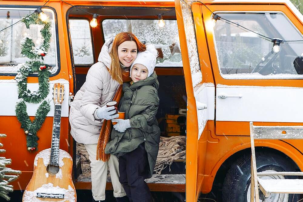
[[[97,144],[84,144],[91,161],[92,168],[92,194],[95,200],[105,200],[105,186],[107,179],[107,167],[112,178],[114,188],[114,197],[123,197],[126,195],[122,184],[119,182],[119,164],[118,158],[111,155],[108,161],[97,161]]]

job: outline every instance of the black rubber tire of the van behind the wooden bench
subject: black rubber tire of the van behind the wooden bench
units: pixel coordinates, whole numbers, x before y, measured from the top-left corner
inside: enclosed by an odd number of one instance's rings
[[[265,151],[256,152],[258,172],[266,170],[296,171],[296,165],[288,158]],[[295,178],[285,176],[285,178]],[[246,154],[231,165],[223,183],[222,201],[247,202],[251,182],[251,156]],[[260,194],[262,196],[262,194]],[[300,194],[288,194],[288,202],[297,202]]]

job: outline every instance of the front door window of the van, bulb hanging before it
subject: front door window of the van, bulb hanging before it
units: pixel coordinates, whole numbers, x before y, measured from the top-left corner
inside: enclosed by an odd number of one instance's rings
[[[216,14],[221,17],[214,35],[223,78],[303,78],[303,42],[298,41],[303,36],[284,14]]]

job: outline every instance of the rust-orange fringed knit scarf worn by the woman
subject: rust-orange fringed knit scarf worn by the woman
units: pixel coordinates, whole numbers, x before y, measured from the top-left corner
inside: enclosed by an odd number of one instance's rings
[[[123,82],[128,82],[132,80],[129,77],[129,72],[125,72],[122,75],[122,80]],[[113,100],[117,101],[117,103],[119,104],[121,97],[122,97],[122,85],[120,85],[120,87],[118,88],[118,91],[116,92]],[[100,136],[98,139],[96,160],[108,161],[110,154],[105,154],[105,147],[106,144],[108,143],[111,131],[112,131],[112,120],[104,119],[100,131]]]

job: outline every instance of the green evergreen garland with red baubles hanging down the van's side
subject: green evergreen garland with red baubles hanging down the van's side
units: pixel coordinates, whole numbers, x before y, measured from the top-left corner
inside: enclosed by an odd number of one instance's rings
[[[26,136],[26,145],[28,151],[37,151],[38,150],[38,136],[37,132],[40,130],[42,124],[45,121],[45,118],[50,111],[50,104],[47,101],[43,101],[49,93],[49,75],[50,72],[48,68],[49,65],[44,64],[43,57],[47,54],[47,51],[50,46],[51,39],[51,23],[49,21],[42,21],[39,18],[37,12],[33,13],[30,16],[22,18],[21,21],[25,24],[26,28],[30,28],[30,25],[44,25],[40,33],[42,36],[42,43],[35,46],[35,43],[31,38],[25,37],[21,41],[21,53],[30,59],[22,65],[18,74],[15,77],[18,86],[18,99],[21,99],[20,102],[17,102],[15,112],[18,121],[21,123],[21,128],[24,129]],[[33,49],[33,47],[35,47]],[[31,92],[27,89],[27,77],[29,74],[38,72],[38,91]],[[42,102],[43,101],[43,102]],[[26,112],[26,104],[34,103],[40,104],[38,107],[35,118],[33,121],[30,120]]]

